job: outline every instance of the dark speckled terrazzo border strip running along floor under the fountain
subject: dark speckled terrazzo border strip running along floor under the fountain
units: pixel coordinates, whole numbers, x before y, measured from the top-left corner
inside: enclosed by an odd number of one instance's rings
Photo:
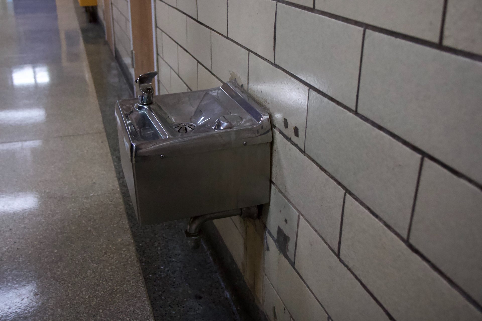
[[[254,321],[244,307],[233,304],[218,267],[205,248],[191,250],[184,230],[187,220],[139,226],[120,166],[114,102],[131,98],[110,52],[102,27],[78,19],[99,101],[107,141],[124,198],[137,255],[156,321]],[[227,282],[227,281],[226,281]]]

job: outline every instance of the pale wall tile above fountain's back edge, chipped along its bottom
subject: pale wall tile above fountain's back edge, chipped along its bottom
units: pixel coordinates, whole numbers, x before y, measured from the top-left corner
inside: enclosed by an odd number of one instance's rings
[[[247,88],[248,51],[215,32],[211,32],[212,70],[223,81],[234,80]]]

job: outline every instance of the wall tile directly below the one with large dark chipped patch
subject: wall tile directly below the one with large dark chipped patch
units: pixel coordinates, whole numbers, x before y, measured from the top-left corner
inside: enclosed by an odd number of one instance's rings
[[[288,308],[288,312],[295,320],[326,320],[327,315],[323,308],[321,308],[288,261],[280,255],[269,236],[267,243],[269,251],[265,252],[265,264],[269,264],[271,267],[268,272],[275,273],[270,275],[267,272],[268,280],[273,284],[278,295],[280,295],[281,300]]]

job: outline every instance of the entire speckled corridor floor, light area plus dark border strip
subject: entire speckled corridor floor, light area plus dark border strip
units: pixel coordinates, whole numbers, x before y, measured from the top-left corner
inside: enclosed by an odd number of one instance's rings
[[[129,85],[76,1],[0,0],[0,320],[248,320],[185,220],[136,224]]]

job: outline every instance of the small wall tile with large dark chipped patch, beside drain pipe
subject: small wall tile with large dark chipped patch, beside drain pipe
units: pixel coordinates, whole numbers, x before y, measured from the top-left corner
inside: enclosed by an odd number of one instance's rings
[[[298,213],[286,198],[271,185],[269,206],[263,208],[263,221],[276,238],[278,246],[292,261],[295,261],[296,230]]]

